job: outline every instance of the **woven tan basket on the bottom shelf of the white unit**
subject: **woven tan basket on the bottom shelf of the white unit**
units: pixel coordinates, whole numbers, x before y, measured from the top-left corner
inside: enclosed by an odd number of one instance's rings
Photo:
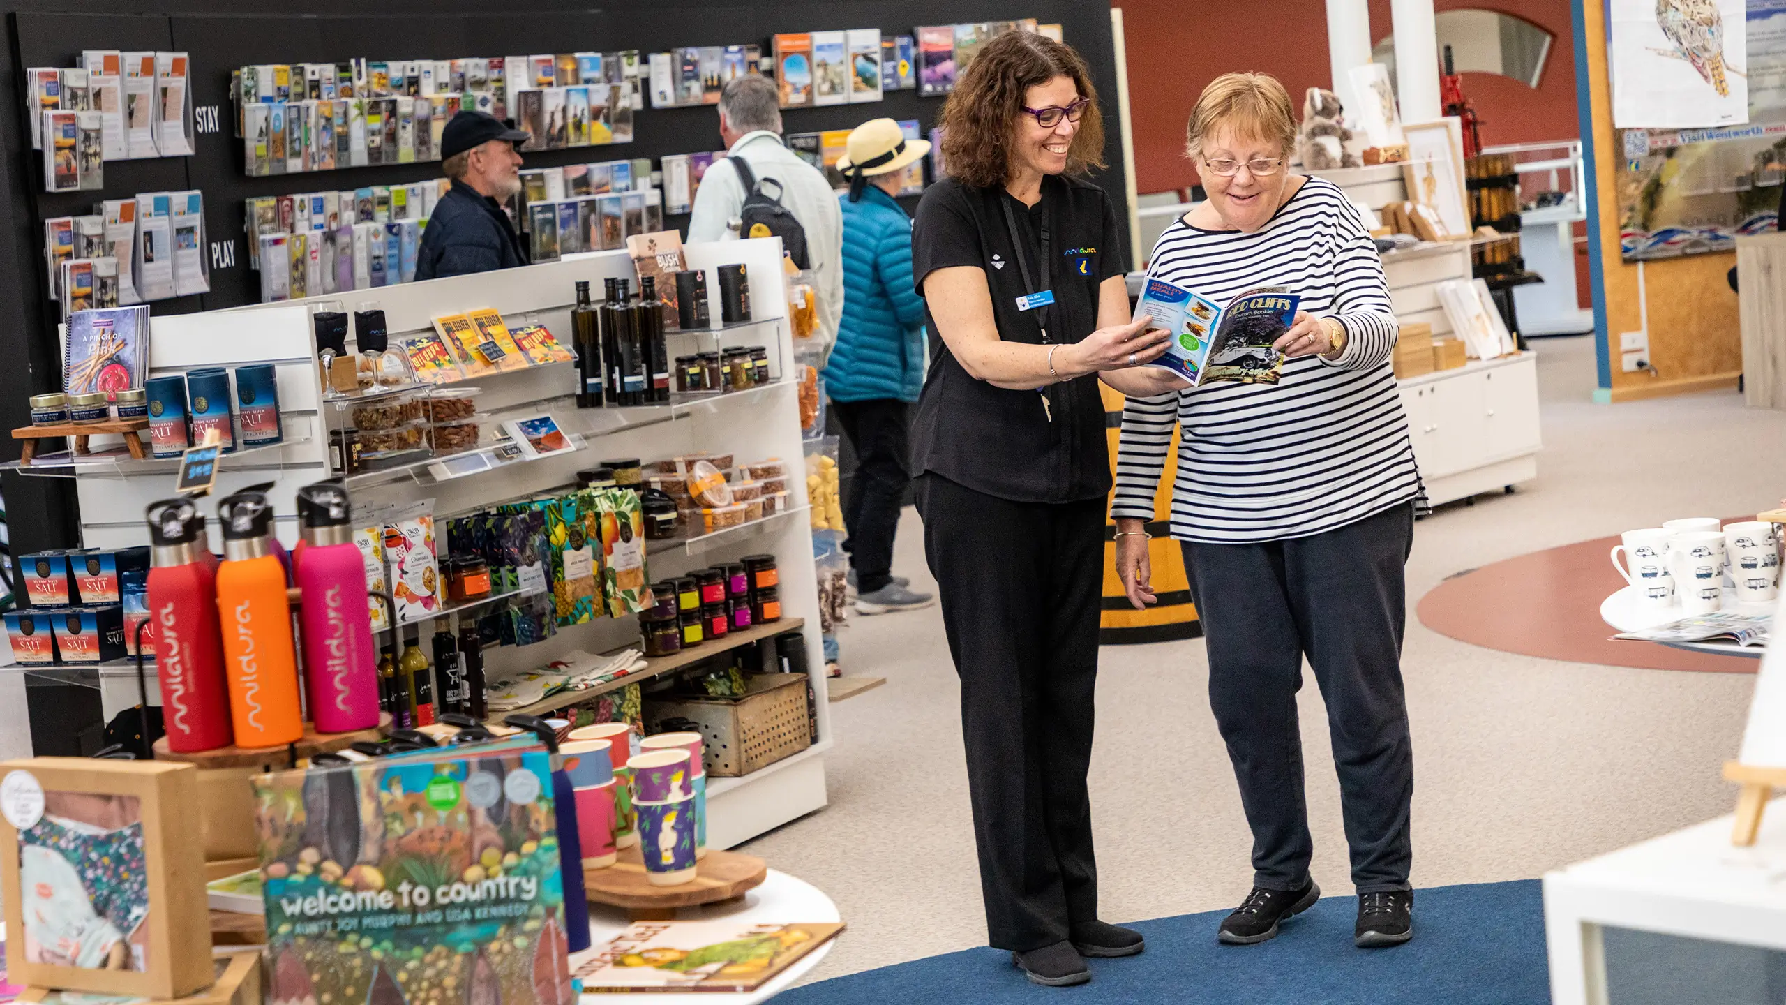
[[[700,724],[704,764],[714,778],[738,778],[813,746],[805,674],[754,674],[745,697],[684,697],[645,708],[650,731],[664,719]]]

